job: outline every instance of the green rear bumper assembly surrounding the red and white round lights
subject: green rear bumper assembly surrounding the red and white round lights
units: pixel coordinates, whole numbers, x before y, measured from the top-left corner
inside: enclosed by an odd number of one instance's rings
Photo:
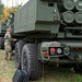
[[[43,50],[45,48],[45,50]],[[56,51],[54,55],[50,54],[50,48],[62,48],[62,52],[58,55]],[[45,52],[47,52],[47,57],[45,57]],[[48,63],[82,63],[82,51],[70,50],[69,46],[66,46],[63,44],[60,44],[58,42],[50,42],[50,43],[43,43],[40,46],[40,58],[39,60],[42,62],[48,62]]]

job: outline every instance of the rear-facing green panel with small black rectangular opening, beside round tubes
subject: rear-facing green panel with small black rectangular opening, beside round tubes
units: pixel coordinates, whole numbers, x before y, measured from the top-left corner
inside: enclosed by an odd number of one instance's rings
[[[56,21],[60,21],[57,3],[38,0],[37,21],[54,22],[56,16],[58,16]]]

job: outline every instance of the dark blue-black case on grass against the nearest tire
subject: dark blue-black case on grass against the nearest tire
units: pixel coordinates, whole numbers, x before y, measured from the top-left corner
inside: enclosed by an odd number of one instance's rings
[[[28,81],[28,73],[23,70],[16,70],[12,82],[27,82]]]

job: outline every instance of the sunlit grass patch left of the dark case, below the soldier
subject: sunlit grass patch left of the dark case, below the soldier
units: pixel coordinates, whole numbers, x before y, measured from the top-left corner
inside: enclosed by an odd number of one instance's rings
[[[0,50],[0,82],[12,82],[15,70],[14,61],[7,61],[4,51]]]

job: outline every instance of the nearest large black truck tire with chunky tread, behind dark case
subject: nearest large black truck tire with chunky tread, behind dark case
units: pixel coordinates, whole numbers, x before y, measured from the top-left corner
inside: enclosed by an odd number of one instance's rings
[[[30,80],[37,80],[40,77],[37,46],[26,44],[22,50],[22,70],[28,72]]]

